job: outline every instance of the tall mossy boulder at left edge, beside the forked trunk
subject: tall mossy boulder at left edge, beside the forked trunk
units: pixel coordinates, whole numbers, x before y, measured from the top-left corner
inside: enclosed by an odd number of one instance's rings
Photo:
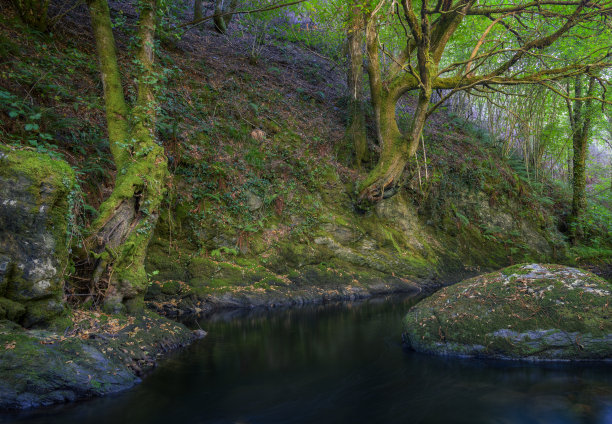
[[[0,146],[0,319],[44,325],[63,310],[74,172]]]

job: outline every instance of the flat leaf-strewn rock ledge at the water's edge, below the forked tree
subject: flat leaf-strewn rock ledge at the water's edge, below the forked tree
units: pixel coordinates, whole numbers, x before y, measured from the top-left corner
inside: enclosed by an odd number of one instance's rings
[[[60,333],[0,320],[0,409],[26,409],[125,390],[161,354],[196,335],[151,312],[75,311]]]

